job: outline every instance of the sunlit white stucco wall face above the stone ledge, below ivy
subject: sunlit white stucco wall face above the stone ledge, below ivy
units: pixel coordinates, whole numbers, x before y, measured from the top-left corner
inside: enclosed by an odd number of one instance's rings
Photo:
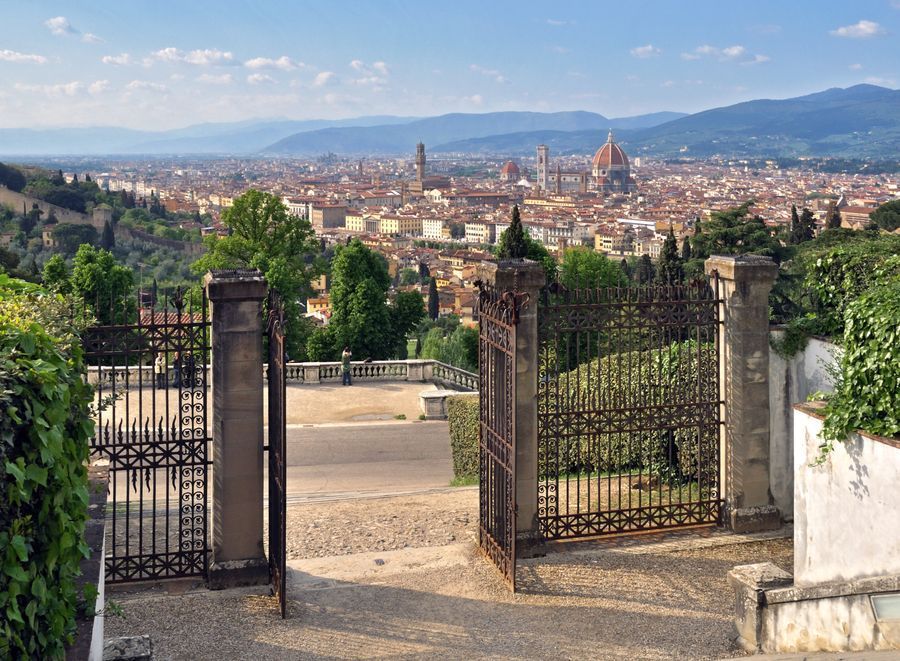
[[[852,434],[811,466],[822,420],[793,418],[794,584],[900,574],[900,447]]]

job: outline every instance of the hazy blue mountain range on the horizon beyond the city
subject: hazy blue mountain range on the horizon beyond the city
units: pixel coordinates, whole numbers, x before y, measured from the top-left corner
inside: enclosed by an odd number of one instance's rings
[[[900,91],[875,85],[833,88],[792,99],[762,99],[693,115],[659,112],[608,119],[585,111],[453,113],[414,118],[253,120],[174,131],[120,128],[0,129],[0,156],[235,154],[270,156],[413,154],[590,154],[607,129],[631,155],[707,157],[835,156],[900,153]]]

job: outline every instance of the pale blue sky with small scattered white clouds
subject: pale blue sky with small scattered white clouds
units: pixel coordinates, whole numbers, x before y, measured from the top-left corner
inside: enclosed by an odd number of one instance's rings
[[[0,127],[616,117],[900,79],[900,0],[0,0],[0,16]]]

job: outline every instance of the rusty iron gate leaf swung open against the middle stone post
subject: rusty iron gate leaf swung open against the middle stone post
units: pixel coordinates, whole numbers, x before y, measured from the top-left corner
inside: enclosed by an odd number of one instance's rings
[[[481,550],[516,589],[516,324],[520,300],[476,283],[478,294]]]

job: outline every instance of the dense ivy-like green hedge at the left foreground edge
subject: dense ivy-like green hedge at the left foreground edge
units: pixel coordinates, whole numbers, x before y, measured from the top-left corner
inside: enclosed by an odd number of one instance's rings
[[[75,630],[94,423],[62,300],[0,276],[0,658],[62,658]]]

